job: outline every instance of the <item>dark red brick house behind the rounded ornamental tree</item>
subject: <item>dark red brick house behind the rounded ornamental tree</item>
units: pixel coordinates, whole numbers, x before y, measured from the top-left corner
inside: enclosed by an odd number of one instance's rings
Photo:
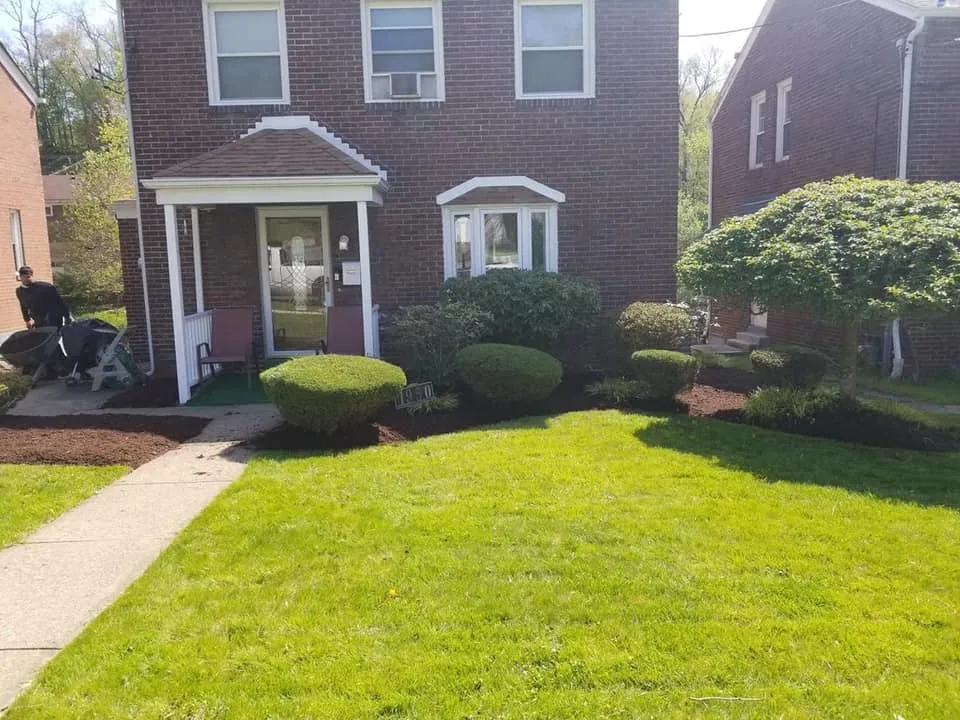
[[[838,175],[960,180],[957,0],[769,0],[712,118],[711,224]],[[719,313],[719,335],[834,347],[800,309]],[[907,323],[925,370],[960,360],[960,323]]]

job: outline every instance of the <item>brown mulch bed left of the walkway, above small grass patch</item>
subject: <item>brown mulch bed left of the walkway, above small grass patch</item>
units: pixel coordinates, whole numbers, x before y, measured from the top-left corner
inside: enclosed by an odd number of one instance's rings
[[[0,463],[137,467],[200,434],[206,418],[0,416]]]

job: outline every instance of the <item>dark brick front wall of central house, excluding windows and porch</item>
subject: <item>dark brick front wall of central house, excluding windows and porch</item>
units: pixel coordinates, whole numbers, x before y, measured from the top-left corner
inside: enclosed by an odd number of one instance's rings
[[[371,216],[375,302],[436,298],[435,198],[477,175],[528,175],[566,193],[561,272],[600,281],[608,305],[673,297],[677,0],[596,4],[593,100],[517,101],[513,0],[457,0],[443,8],[446,102],[367,105],[357,0],[286,0],[291,104],[215,108],[200,0],[123,0],[140,179],[235,139],[263,115],[308,114],[390,174],[386,204]],[[169,358],[163,213],[152,192],[141,200],[155,341]]]

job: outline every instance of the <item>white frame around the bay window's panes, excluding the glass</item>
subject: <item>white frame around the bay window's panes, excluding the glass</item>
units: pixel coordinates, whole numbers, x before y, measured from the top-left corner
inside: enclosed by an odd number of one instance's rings
[[[501,213],[516,213],[519,223],[518,244],[520,267],[529,270],[533,267],[533,237],[530,216],[542,212],[547,215],[546,236],[544,238],[544,265],[546,272],[560,272],[559,258],[559,222],[557,206],[546,204],[509,204],[509,205],[446,205],[443,208],[443,274],[444,278],[457,276],[457,231],[455,218],[458,215],[470,216],[470,274],[472,277],[486,275],[486,240],[484,237],[483,216]]]

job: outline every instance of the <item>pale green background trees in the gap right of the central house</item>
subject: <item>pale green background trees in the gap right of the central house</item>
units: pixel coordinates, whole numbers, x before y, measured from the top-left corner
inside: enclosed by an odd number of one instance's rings
[[[680,194],[677,245],[682,252],[707,231],[710,113],[727,75],[718,48],[680,63]]]

